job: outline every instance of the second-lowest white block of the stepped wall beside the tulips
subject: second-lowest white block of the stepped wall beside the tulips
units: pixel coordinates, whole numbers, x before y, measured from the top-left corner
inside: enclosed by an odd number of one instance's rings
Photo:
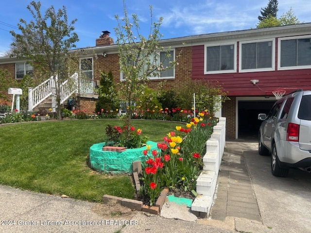
[[[198,195],[213,197],[216,189],[215,171],[202,171],[196,180],[196,192]]]

